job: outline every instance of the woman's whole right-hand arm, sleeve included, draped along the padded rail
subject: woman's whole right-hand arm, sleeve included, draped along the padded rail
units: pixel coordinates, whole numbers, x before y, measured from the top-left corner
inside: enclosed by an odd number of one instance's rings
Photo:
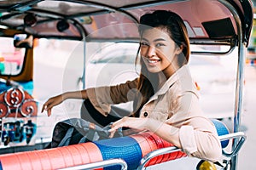
[[[172,108],[175,112],[166,122],[125,117],[114,122],[110,132],[114,133],[119,127],[148,130],[181,148],[188,156],[218,161],[222,154],[218,133],[213,123],[203,116],[195,94],[184,93],[176,101],[177,105]]]

